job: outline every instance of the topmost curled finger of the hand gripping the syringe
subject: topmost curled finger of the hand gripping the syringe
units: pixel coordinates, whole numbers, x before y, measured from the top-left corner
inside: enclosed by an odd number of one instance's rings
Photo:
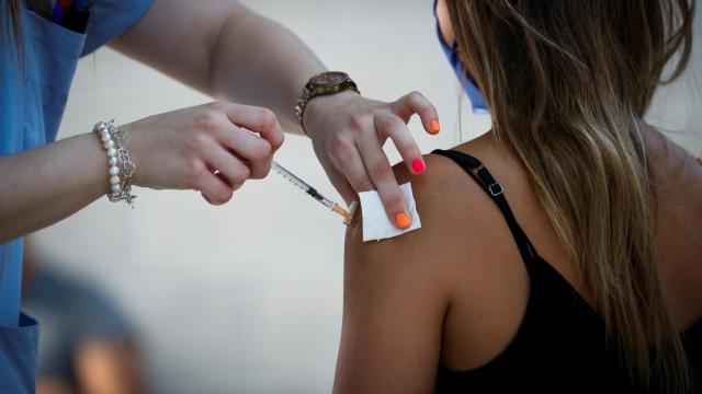
[[[216,103],[229,120],[238,127],[258,132],[275,152],[284,140],[283,128],[272,111],[256,106]]]

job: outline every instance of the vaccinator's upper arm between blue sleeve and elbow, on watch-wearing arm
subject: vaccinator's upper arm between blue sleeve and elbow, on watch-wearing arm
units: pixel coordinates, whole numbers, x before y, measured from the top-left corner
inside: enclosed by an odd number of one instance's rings
[[[110,43],[123,54],[200,90],[210,88],[211,48],[228,19],[250,13],[236,0],[154,0],[146,15]]]

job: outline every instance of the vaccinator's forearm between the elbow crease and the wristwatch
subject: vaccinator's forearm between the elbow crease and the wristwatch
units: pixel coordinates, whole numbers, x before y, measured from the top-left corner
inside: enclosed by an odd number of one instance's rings
[[[271,108],[285,130],[301,130],[295,101],[326,68],[295,34],[241,7],[227,18],[211,53],[211,93]]]

